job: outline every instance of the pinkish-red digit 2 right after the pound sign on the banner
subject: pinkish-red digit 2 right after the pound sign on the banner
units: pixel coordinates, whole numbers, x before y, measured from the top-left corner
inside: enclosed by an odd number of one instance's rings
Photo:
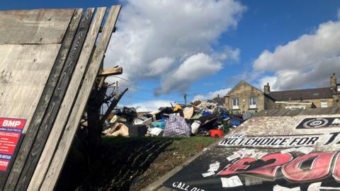
[[[293,156],[290,154],[268,154],[261,158],[262,161],[271,161],[275,160],[273,163],[269,163],[265,166],[261,166],[259,168],[255,168],[254,170],[247,170],[245,173],[256,173],[260,175],[265,175],[270,178],[275,178],[276,171],[280,166],[284,165],[285,163],[290,162],[293,159]]]

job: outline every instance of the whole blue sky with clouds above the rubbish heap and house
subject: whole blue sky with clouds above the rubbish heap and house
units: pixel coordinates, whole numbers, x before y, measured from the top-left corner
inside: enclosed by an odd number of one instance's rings
[[[225,96],[240,80],[272,91],[340,75],[340,1],[2,1],[1,10],[122,4],[105,67],[123,67],[120,105],[155,110]]]

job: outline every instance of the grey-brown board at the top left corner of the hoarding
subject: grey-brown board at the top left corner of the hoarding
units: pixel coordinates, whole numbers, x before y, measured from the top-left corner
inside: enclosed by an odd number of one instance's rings
[[[0,44],[60,44],[74,9],[0,11]]]

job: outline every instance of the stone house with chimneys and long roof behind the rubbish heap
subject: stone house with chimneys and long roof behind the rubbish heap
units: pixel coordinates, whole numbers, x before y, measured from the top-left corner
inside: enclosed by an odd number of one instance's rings
[[[330,86],[325,88],[271,91],[267,83],[261,91],[246,81],[239,81],[225,96],[224,106],[234,112],[339,107],[340,83],[336,83],[336,75],[332,74]]]

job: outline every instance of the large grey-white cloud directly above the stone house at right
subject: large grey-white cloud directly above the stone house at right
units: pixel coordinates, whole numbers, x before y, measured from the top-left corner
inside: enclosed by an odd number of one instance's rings
[[[265,50],[254,61],[254,72],[273,72],[259,79],[261,85],[271,82],[271,88],[284,90],[302,86],[329,86],[331,73],[340,71],[340,22],[322,23],[312,33],[302,35]]]

